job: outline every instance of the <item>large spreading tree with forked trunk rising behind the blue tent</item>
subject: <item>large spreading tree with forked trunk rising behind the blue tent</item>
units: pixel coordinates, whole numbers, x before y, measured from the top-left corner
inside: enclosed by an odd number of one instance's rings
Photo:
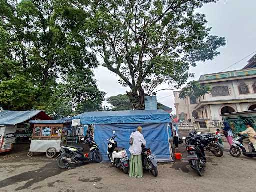
[[[196,12],[218,0],[91,0],[86,31],[103,66],[128,86],[134,108],[161,83],[181,87],[197,61],[211,60],[225,44],[209,34]]]

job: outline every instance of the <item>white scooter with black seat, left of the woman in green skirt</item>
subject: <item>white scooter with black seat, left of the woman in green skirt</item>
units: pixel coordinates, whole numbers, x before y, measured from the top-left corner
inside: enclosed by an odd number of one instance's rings
[[[117,142],[114,140],[115,137],[115,131],[113,131],[112,137],[107,140],[108,158],[111,160],[112,166],[120,168],[123,173],[127,174],[129,172],[129,158],[125,148],[117,147]]]

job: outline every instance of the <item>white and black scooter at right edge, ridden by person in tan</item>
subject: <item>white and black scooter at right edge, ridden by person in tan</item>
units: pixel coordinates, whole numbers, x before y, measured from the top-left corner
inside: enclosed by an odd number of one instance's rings
[[[244,156],[247,156],[247,157],[256,157],[256,151],[255,151],[255,148],[253,147],[253,145],[251,143],[251,147],[252,147],[252,152],[247,152],[244,145],[243,145],[243,139],[244,138],[248,138],[246,136],[243,136],[241,134],[237,134],[237,137],[233,139],[233,143],[232,143],[232,146],[230,147],[230,154],[233,156],[233,157],[236,157],[238,158],[240,155],[241,155],[241,152]]]

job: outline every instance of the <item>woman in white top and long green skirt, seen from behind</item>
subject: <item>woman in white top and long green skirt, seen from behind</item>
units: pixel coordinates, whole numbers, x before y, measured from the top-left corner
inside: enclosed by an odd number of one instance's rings
[[[129,176],[130,177],[143,177],[143,165],[142,165],[142,144],[146,146],[146,141],[142,134],[142,127],[137,127],[135,132],[132,132],[130,135],[130,144],[129,151],[130,155],[130,167],[129,167]]]

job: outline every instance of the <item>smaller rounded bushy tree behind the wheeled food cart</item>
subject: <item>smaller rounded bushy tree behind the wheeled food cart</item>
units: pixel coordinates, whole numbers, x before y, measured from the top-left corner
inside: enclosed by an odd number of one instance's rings
[[[69,74],[47,101],[46,110],[52,114],[72,114],[101,109],[105,93],[98,90],[92,74],[88,73]]]

